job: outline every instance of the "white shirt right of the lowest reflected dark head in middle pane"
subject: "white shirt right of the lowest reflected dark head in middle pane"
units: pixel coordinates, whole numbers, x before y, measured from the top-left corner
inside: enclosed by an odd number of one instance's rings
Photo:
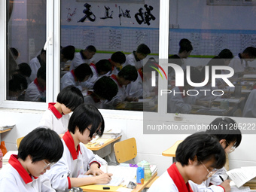
[[[120,85],[117,81],[117,75],[111,75],[110,78],[112,78],[114,80],[114,83],[117,84],[118,87],[118,91],[117,91],[117,95],[113,97],[113,99],[111,99],[111,101],[105,100],[105,102],[103,102],[103,108],[114,108],[117,104],[119,104],[120,102],[124,102],[124,100],[126,99],[127,93],[126,93],[126,87],[124,85]]]

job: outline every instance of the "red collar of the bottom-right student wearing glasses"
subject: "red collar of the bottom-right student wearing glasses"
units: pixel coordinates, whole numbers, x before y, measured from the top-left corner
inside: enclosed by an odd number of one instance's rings
[[[178,191],[182,192],[193,192],[190,187],[190,184],[185,183],[184,178],[182,178],[181,173],[178,171],[177,166],[173,163],[168,169],[167,172],[169,176],[172,178],[172,181],[175,183]]]

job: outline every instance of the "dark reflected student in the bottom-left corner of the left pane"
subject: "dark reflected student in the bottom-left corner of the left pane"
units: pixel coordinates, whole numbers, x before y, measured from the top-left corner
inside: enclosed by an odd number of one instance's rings
[[[23,101],[24,100],[24,90],[28,87],[26,78],[20,74],[12,75],[10,81],[8,81],[8,100],[13,101]]]

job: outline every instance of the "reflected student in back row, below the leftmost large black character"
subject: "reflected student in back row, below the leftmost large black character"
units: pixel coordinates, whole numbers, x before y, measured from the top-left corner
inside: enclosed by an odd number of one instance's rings
[[[93,56],[96,53],[96,48],[93,45],[87,46],[84,50],[80,50],[80,52],[75,53],[74,59],[72,60],[69,71],[72,71],[73,69],[76,69],[78,66],[80,66],[83,63],[87,63],[90,65],[90,62],[93,58]]]

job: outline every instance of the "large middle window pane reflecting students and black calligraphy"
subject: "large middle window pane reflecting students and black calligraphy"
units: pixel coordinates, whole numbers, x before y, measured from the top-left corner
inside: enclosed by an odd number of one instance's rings
[[[62,0],[61,90],[73,84],[98,108],[157,111],[158,39],[159,1]]]

